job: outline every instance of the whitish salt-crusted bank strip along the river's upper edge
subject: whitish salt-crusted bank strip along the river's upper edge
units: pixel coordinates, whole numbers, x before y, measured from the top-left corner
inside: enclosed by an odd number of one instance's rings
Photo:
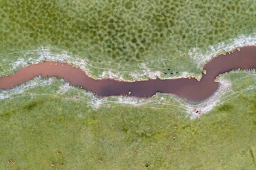
[[[195,77],[201,79],[203,64],[210,61],[213,57],[218,57],[221,54],[228,54],[238,47],[245,47],[250,45],[256,45],[256,35],[241,35],[234,40],[225,40],[217,45],[207,47],[203,49],[193,49],[188,54],[186,52],[180,54],[180,57],[189,55],[193,60],[193,64],[188,64],[188,67],[183,67],[184,63],[179,65],[178,69],[164,66],[171,61],[171,59],[149,60],[137,64],[136,67],[129,68],[123,65],[123,67],[102,66],[95,65],[94,62],[84,59],[83,55],[77,56],[70,52],[58,50],[53,47],[38,47],[36,50],[25,50],[21,52],[1,53],[2,63],[0,65],[0,77],[9,76],[14,74],[18,69],[26,67],[30,64],[37,64],[43,61],[55,61],[55,62],[67,62],[73,65],[73,67],[80,67],[87,75],[93,79],[115,79],[117,81],[139,81],[148,79],[178,79],[186,77]],[[151,62],[151,63],[149,63]],[[185,62],[182,60],[182,62]],[[107,63],[107,62],[106,62]],[[122,65],[122,64],[121,64]],[[193,67],[196,69],[192,69]],[[170,69],[170,71],[168,70]],[[166,72],[166,74],[164,74]],[[174,72],[175,74],[170,74]],[[178,72],[178,74],[176,73]]]

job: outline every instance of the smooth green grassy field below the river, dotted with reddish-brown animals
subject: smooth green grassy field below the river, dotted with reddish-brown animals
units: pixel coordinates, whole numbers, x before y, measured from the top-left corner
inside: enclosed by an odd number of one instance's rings
[[[14,94],[0,100],[0,169],[255,169],[255,75],[223,77],[233,96],[194,120],[171,96],[95,109],[58,79]]]

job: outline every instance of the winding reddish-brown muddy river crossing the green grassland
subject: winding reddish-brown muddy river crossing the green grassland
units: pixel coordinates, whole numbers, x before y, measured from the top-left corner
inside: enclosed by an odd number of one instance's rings
[[[18,84],[42,77],[60,77],[74,86],[82,86],[98,96],[127,95],[136,97],[151,97],[156,92],[174,94],[188,101],[203,101],[211,96],[219,84],[215,82],[218,74],[229,72],[232,69],[256,68],[256,46],[242,47],[240,51],[213,58],[204,65],[206,74],[200,81],[192,78],[180,79],[149,79],[148,81],[116,81],[114,79],[92,79],[80,68],[73,68],[70,64],[55,62],[41,62],[24,67],[9,77],[0,78],[0,89],[11,89]]]

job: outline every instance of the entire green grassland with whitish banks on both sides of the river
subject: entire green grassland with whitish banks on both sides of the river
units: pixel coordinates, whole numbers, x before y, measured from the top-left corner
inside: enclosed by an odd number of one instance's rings
[[[200,77],[256,45],[256,2],[0,0],[0,36],[0,77],[46,60],[97,79]],[[256,169],[255,70],[217,81],[202,103],[102,98],[58,78],[0,89],[0,169]]]

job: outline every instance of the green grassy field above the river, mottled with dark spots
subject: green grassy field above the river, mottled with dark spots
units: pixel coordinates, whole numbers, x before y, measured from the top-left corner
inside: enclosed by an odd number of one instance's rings
[[[37,57],[28,50],[49,47],[97,67],[90,67],[93,77],[108,69],[125,79],[146,68],[198,74],[193,55],[202,54],[193,50],[204,54],[220,42],[254,35],[255,11],[253,0],[1,0],[0,70],[12,69],[9,63],[20,57]]]

